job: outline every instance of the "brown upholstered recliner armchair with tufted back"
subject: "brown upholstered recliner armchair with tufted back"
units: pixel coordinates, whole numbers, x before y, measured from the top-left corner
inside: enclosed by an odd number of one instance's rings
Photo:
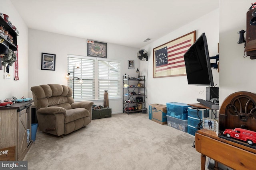
[[[31,87],[40,131],[67,135],[92,121],[93,102],[74,102],[72,89],[60,84]]]

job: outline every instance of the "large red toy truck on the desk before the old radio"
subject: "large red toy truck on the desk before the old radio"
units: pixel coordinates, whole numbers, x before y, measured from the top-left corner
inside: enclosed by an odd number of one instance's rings
[[[250,131],[242,128],[233,129],[225,129],[223,134],[226,137],[232,137],[235,139],[240,139],[242,141],[246,141],[249,145],[253,145],[256,143],[256,132]]]

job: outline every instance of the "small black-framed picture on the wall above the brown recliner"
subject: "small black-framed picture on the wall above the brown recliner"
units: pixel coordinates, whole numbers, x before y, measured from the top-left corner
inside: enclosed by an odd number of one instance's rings
[[[55,54],[42,53],[41,70],[55,70]]]

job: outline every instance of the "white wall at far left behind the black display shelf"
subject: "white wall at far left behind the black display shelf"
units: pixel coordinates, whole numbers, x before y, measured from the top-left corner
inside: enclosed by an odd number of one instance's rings
[[[19,78],[14,80],[14,67],[10,66],[10,79],[6,79],[6,67],[0,70],[0,99],[12,98],[15,96],[21,98],[28,97],[28,27],[20,18],[20,15],[9,0],[0,0],[0,12],[7,14],[9,20],[18,29],[19,36],[17,36],[18,44],[18,64],[19,64]]]

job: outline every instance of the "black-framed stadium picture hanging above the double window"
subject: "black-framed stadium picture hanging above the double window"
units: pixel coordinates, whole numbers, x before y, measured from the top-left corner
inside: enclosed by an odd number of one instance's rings
[[[107,43],[87,40],[87,56],[107,58]]]

